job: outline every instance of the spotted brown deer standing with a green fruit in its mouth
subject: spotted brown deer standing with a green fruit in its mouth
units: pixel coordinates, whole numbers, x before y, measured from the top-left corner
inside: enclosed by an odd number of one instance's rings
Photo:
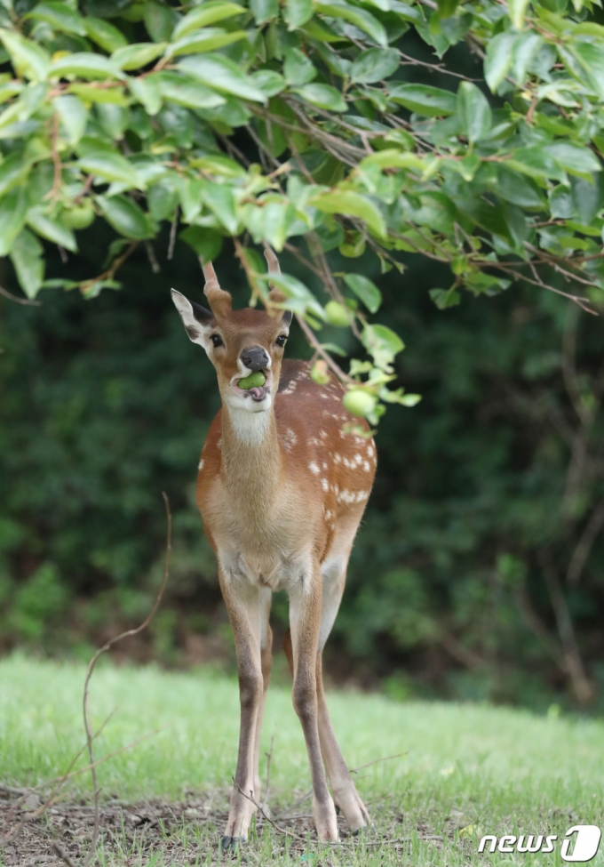
[[[336,807],[354,834],[370,823],[331,726],[322,652],[370,496],[376,446],[367,422],[346,412],[345,389],[335,376],[318,384],[308,362],[283,358],[292,313],[270,282],[271,274],[281,273],[277,257],[270,248],[265,256],[266,309],[233,309],[211,262],[203,264],[210,309],[171,290],[189,339],[216,369],[222,401],[203,446],[196,502],[218,560],[239,679],[239,750],[223,851],[246,842],[260,802],[258,757],[276,590],[289,595],[283,649],[306,742],[318,839],[338,840]],[[258,371],[264,385],[239,388]]]

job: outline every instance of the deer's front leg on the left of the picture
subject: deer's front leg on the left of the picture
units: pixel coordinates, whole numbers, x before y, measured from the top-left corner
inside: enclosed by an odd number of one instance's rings
[[[234,582],[222,572],[220,586],[233,628],[241,702],[239,752],[234,775],[236,785],[231,794],[227,828],[222,839],[223,848],[234,848],[238,841],[247,839],[250,820],[256,810],[245,796],[254,791],[254,745],[264,692],[260,646],[263,607],[266,606],[262,605],[258,588],[242,581]]]

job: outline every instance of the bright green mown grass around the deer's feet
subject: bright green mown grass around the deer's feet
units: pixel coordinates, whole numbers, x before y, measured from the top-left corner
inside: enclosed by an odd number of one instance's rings
[[[19,655],[0,662],[4,784],[36,785],[68,767],[83,744],[83,674],[79,665],[35,662]],[[473,704],[395,703],[358,693],[330,694],[329,703],[351,767],[405,753],[357,775],[376,828],[365,841],[347,842],[339,853],[326,854],[311,842],[301,855],[266,823],[258,823],[258,839],[246,847],[248,863],[561,865],[559,846],[552,855],[479,855],[478,841],[488,833],[550,833],[561,838],[575,824],[604,824],[600,721],[537,717],[524,710]],[[97,725],[115,710],[96,744],[98,756],[161,729],[99,767],[105,798],[176,802],[190,799],[192,791],[211,791],[219,811],[227,808],[239,725],[234,680],[204,670],[182,674],[101,665],[91,684],[91,706]],[[270,802],[276,814],[310,782],[298,719],[290,692],[282,687],[268,694],[266,751],[273,733]],[[266,759],[263,765],[264,775]],[[88,777],[76,777],[70,784],[70,799],[90,796]],[[159,847],[149,860],[136,835],[118,830],[110,846],[107,840],[101,846],[100,861],[137,867],[215,863],[218,821],[195,822],[183,815],[171,828],[171,846],[175,839],[184,839],[189,860],[172,856],[167,842],[165,851]],[[604,864],[604,845],[600,849],[593,867]]]

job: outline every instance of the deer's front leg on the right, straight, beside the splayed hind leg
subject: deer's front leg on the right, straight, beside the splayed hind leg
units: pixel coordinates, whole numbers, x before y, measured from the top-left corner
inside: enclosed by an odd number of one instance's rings
[[[321,627],[322,578],[313,568],[290,592],[290,631],[293,655],[293,702],[306,741],[313,781],[314,825],[319,839],[338,839],[336,809],[327,786],[319,740],[316,658]]]

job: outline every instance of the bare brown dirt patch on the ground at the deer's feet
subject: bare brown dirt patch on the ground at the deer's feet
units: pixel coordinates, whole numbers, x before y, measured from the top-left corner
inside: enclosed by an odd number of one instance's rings
[[[291,797],[292,793],[289,794]],[[271,829],[273,856],[284,854],[286,849],[290,853],[299,852],[302,855],[309,844],[311,847],[317,844],[309,802],[304,793],[293,794],[291,807],[274,815],[280,830]],[[29,793],[17,806],[19,797],[20,790],[0,786],[0,833],[4,832],[8,836],[22,824],[18,836],[4,850],[0,850],[4,856],[0,856],[3,867],[44,867],[51,864],[55,867],[70,862],[81,864],[91,845],[94,807],[83,800],[78,803],[66,801],[53,804],[42,815],[36,815],[42,806],[42,800],[36,793]],[[104,863],[133,867],[147,864],[157,853],[163,855],[165,863],[174,867],[210,861],[219,864],[219,843],[227,822],[227,797],[228,793],[224,790],[203,795],[191,793],[187,799],[178,802],[150,800],[123,804],[116,799],[105,801],[99,810],[97,852],[99,855],[102,852]],[[409,828],[405,828],[406,833],[403,835],[403,816],[398,811],[388,815],[384,825],[372,828],[364,839],[351,837],[341,816],[338,817],[338,824],[340,839],[345,847],[384,846],[391,854],[402,856],[409,845]],[[266,818],[257,815],[255,836],[258,840],[263,838],[266,825]],[[289,831],[290,835],[284,833],[283,829]],[[430,834],[421,826],[415,831],[419,839],[442,847],[442,837]],[[259,843],[250,843],[246,847],[248,863],[262,863],[258,861],[259,846]],[[60,856],[57,847],[65,858]],[[211,859],[208,858],[210,854]],[[226,854],[222,855],[223,863],[225,860]],[[334,852],[333,861],[329,855],[323,855],[321,863],[340,862]]]

